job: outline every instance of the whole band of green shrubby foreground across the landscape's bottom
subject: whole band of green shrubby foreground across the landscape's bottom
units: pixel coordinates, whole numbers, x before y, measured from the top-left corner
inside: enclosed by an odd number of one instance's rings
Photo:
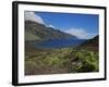
[[[98,72],[98,52],[73,48],[46,49],[26,54],[25,74]]]

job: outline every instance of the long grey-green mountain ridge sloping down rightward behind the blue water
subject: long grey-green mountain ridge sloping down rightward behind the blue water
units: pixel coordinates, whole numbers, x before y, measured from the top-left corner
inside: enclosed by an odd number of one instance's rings
[[[52,27],[47,27],[33,21],[25,21],[25,39],[29,40],[51,40],[76,38],[73,35],[63,33]]]

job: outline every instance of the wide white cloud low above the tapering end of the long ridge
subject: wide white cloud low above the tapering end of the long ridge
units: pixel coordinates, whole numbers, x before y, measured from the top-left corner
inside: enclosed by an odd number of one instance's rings
[[[74,35],[80,39],[90,39],[90,38],[93,38],[97,35],[97,34],[87,33],[83,28],[71,28],[71,29],[68,29],[68,30],[64,30],[64,32],[68,33],[68,34]]]

